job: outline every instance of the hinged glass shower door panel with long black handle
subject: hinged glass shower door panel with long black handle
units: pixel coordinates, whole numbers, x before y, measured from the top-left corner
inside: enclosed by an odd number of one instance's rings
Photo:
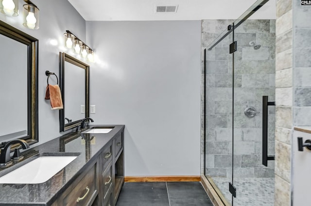
[[[274,205],[275,20],[248,19],[265,2],[233,26],[233,206]]]

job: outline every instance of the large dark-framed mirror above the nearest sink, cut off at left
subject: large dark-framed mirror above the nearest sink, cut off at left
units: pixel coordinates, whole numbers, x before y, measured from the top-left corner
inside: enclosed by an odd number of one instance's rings
[[[38,40],[0,21],[0,147],[38,142]]]

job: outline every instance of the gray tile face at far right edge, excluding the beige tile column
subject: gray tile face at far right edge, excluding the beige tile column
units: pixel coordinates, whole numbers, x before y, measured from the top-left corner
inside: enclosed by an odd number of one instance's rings
[[[310,127],[311,8],[294,1],[294,126]]]

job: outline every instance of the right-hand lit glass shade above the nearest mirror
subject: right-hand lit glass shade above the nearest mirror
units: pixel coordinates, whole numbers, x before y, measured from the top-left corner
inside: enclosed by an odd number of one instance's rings
[[[23,25],[28,29],[39,29],[39,9],[31,4],[23,5]]]

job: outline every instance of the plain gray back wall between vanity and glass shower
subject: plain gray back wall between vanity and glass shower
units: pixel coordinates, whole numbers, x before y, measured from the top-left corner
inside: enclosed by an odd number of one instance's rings
[[[200,21],[86,22],[94,124],[125,125],[125,175],[200,175]]]

